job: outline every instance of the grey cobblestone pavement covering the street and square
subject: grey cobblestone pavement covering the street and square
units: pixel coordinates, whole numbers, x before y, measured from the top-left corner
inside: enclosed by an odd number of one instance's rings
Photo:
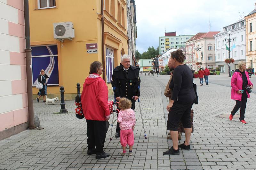
[[[163,95],[168,76],[140,74],[140,77],[140,105],[148,139],[144,139],[136,102],[132,156],[119,155],[122,151],[119,138],[109,140],[111,127],[104,145],[111,156],[98,160],[95,155],[87,155],[86,121],[75,117],[74,101],[66,101],[67,114],[57,114],[60,102],[45,105],[35,101],[35,114],[44,129],[26,130],[0,141],[0,169],[256,169],[255,93],[247,101],[248,124],[239,123],[239,119],[219,118],[217,115],[230,113],[235,101],[230,100],[228,74],[210,76],[209,86],[197,86],[199,104],[193,106],[191,151],[180,150],[180,155],[164,156],[162,152],[172,146],[172,141],[166,139],[168,112],[167,98]],[[251,80],[255,82],[256,77]],[[199,79],[194,81],[200,84]],[[180,143],[184,140],[183,134]]]

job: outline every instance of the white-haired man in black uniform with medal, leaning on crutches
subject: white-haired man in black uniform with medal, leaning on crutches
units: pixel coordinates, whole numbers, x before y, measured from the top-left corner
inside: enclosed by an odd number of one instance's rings
[[[120,66],[117,66],[113,70],[112,75],[111,84],[114,90],[116,101],[119,101],[121,97],[126,97],[127,99],[132,101],[132,110],[134,110],[135,108],[135,101],[140,96],[139,71],[140,68],[130,65],[130,57],[128,55],[124,55],[121,58]],[[120,127],[118,122],[116,125],[115,137],[120,137]]]

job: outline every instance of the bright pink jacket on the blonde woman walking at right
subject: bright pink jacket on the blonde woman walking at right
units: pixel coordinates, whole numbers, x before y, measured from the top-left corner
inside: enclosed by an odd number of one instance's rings
[[[249,79],[249,74],[247,71],[244,71],[245,75],[247,77],[248,86],[252,85],[252,82]],[[231,99],[233,100],[242,100],[242,94],[238,94],[237,91],[243,89],[243,78],[241,77],[242,74],[239,72],[235,72],[231,78]],[[244,92],[247,93],[248,98],[250,98],[250,94],[244,90]]]

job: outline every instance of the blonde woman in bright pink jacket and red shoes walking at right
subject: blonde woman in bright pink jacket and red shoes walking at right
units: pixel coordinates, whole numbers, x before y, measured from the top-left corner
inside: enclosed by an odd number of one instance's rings
[[[244,113],[246,108],[247,98],[250,98],[250,94],[246,91],[246,87],[252,89],[253,84],[249,79],[249,74],[246,69],[246,63],[239,61],[238,68],[231,79],[231,99],[236,100],[236,105],[229,115],[229,120],[233,119],[237,110],[240,108],[240,123],[246,124],[244,121]]]

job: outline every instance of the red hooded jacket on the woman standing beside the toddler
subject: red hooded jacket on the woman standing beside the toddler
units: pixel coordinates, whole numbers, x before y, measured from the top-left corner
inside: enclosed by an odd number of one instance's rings
[[[99,74],[90,74],[85,79],[81,103],[85,119],[106,121],[110,117],[108,87]]]

